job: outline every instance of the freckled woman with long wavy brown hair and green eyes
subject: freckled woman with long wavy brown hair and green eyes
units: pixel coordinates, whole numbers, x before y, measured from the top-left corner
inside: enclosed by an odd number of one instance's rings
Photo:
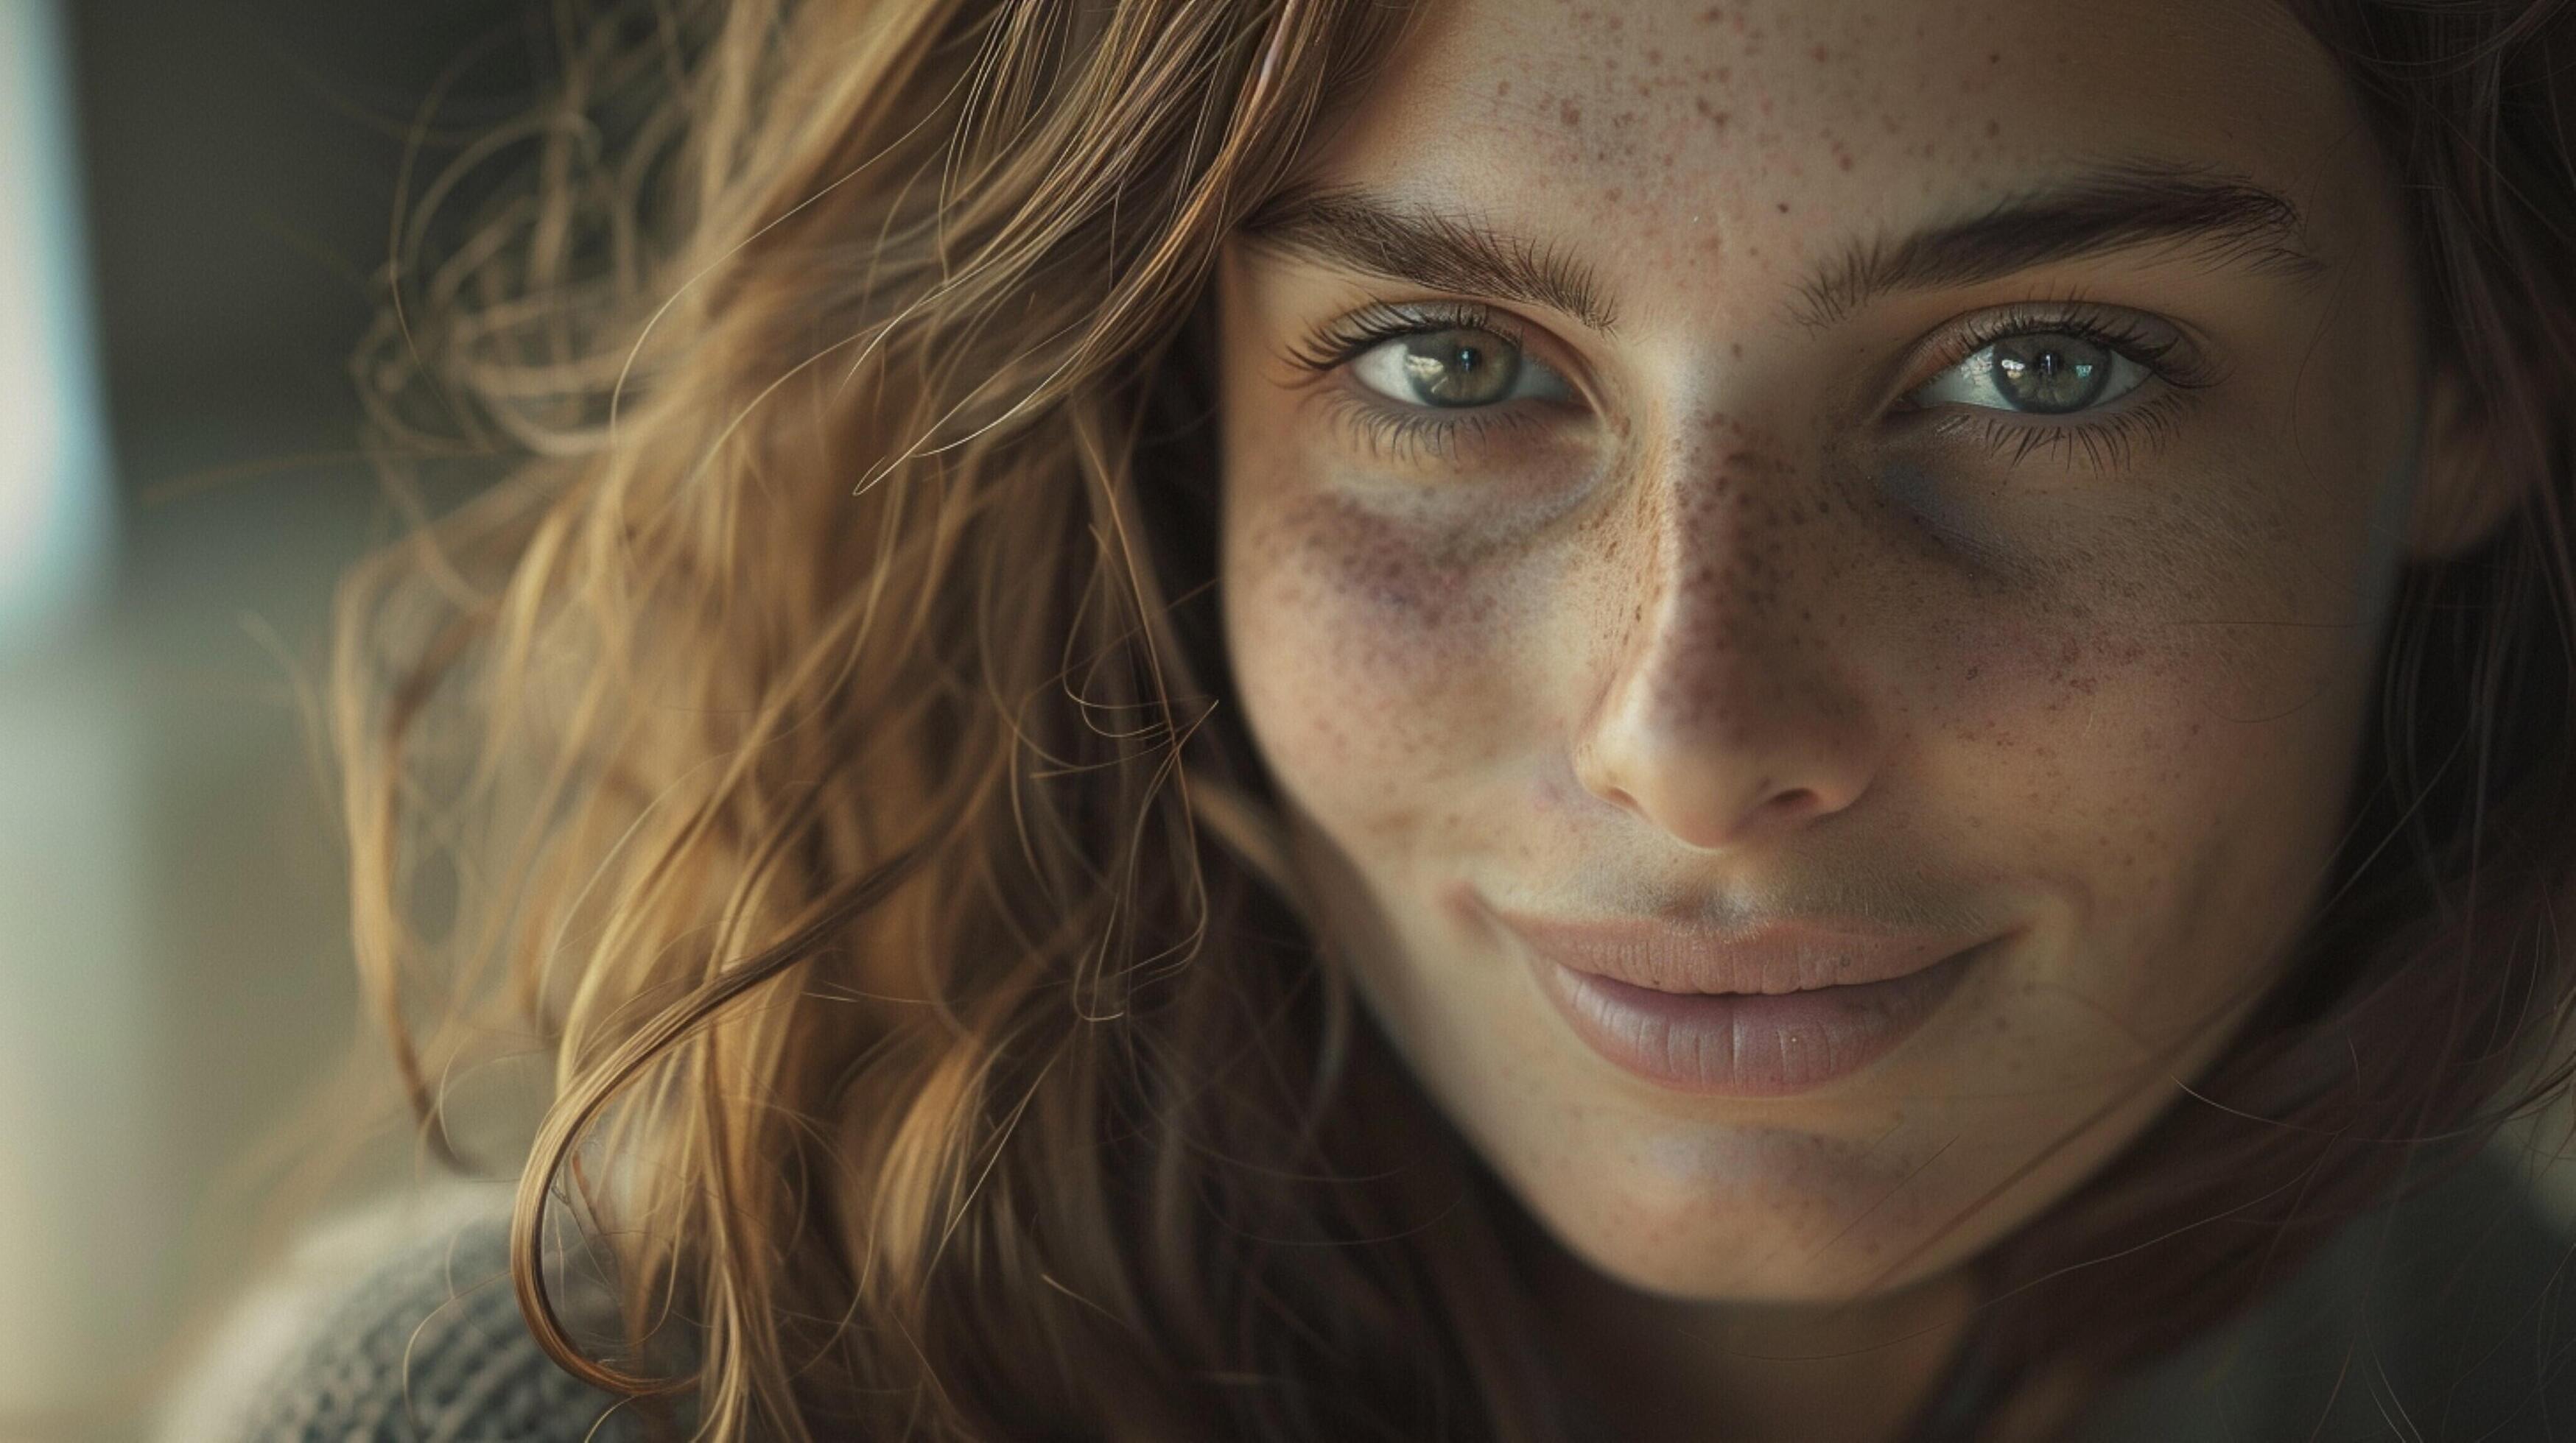
[[[435,1366],[544,1350],[546,1438],[2543,1435],[2561,1242],[2463,1165],[2563,1090],[2568,31],[595,21],[363,368],[533,454],[345,595],[374,997],[515,1020],[404,1041],[433,1136],[556,1056],[528,1337]]]

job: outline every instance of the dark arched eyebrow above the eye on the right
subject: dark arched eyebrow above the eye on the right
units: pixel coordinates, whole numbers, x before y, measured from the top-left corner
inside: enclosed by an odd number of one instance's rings
[[[2326,271],[2287,196],[2215,167],[2130,160],[2007,196],[1899,242],[1855,242],[1798,289],[1790,314],[1821,330],[1893,291],[1973,286],[2159,242],[2210,265],[2244,263],[2293,281]]]

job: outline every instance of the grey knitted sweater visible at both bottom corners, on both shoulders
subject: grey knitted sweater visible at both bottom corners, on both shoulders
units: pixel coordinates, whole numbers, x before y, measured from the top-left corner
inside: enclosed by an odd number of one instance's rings
[[[160,1443],[634,1443],[528,1337],[505,1224],[505,1190],[459,1185],[325,1234],[173,1394]],[[2079,1443],[2576,1438],[2568,1255],[2527,1185],[2478,1162],[2143,1368]],[[600,1306],[572,1299],[592,1324]]]

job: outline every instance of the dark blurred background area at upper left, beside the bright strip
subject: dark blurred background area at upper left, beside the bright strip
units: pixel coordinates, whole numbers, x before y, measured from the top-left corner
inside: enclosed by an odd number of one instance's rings
[[[345,358],[415,193],[531,100],[528,0],[64,5],[108,415],[126,490],[165,469],[343,451]],[[425,103],[448,77],[440,106]],[[428,126],[420,121],[428,119]]]

